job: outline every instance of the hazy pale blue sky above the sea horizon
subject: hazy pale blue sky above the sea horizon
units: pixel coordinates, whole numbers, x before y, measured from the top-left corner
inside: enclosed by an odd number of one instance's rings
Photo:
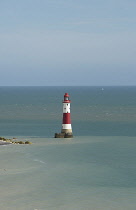
[[[0,0],[0,86],[136,85],[135,0]]]

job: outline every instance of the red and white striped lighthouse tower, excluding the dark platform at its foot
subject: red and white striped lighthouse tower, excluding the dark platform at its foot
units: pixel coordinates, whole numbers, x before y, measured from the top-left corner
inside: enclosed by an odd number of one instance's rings
[[[69,95],[68,93],[65,93],[63,101],[63,120],[61,133],[72,134],[70,103],[71,101],[69,100]]]

